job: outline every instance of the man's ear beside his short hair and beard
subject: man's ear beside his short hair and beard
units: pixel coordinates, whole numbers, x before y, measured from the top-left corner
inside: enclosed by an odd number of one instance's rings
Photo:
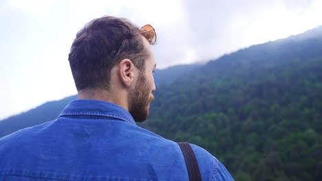
[[[120,80],[126,87],[131,86],[131,82],[134,78],[134,64],[129,59],[123,59],[118,64],[118,74],[120,75]]]

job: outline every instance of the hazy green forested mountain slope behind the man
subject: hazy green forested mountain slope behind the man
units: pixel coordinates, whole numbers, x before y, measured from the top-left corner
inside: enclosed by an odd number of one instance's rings
[[[321,32],[254,45],[169,76],[140,126],[204,147],[235,180],[321,180]],[[5,126],[0,121],[0,134]]]

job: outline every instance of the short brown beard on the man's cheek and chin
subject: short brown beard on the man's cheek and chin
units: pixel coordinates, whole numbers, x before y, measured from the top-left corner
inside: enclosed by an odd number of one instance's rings
[[[149,117],[149,105],[154,99],[150,96],[149,86],[143,73],[138,75],[138,81],[134,90],[129,95],[129,113],[134,121],[143,122]]]

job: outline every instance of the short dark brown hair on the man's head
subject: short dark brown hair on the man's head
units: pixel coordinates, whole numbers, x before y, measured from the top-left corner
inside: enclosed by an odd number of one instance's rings
[[[140,70],[148,56],[139,33],[140,29],[127,19],[104,16],[87,23],[77,34],[68,56],[77,90],[110,87],[111,69],[129,58]],[[114,50],[125,36],[120,49]]]

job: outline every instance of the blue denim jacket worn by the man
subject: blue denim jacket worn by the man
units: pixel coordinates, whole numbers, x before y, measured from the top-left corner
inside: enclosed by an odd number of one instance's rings
[[[28,120],[26,120],[28,121]],[[191,144],[202,180],[233,180]],[[71,101],[54,121],[0,138],[0,180],[189,180],[177,143],[106,101]]]

